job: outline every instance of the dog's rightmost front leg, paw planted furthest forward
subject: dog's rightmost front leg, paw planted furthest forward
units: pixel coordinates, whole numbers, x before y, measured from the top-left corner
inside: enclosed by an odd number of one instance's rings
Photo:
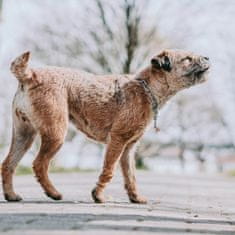
[[[147,200],[137,193],[135,178],[135,142],[129,143],[120,159],[122,174],[124,177],[124,185],[127,190],[128,197],[133,203],[146,203]]]

